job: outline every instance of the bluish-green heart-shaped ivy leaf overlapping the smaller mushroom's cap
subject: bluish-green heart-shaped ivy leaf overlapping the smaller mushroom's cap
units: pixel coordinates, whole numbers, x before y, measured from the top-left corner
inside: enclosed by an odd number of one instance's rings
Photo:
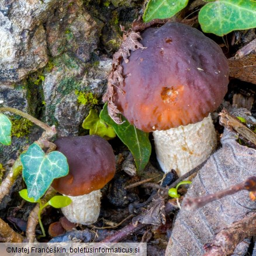
[[[20,155],[23,179],[27,185],[29,198],[38,200],[47,191],[53,179],[68,174],[65,155],[58,151],[45,154],[38,144],[33,143]]]

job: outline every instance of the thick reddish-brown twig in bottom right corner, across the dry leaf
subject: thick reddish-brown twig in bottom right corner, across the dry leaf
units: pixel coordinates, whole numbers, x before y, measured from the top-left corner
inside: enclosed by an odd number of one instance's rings
[[[256,235],[256,214],[244,217],[220,231],[210,244],[205,244],[203,256],[232,255],[237,245],[247,237]]]

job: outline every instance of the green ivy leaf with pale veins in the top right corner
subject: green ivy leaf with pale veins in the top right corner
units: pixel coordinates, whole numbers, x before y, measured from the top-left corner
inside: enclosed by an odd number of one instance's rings
[[[256,2],[219,0],[200,9],[198,20],[205,33],[223,36],[233,30],[256,27]]]

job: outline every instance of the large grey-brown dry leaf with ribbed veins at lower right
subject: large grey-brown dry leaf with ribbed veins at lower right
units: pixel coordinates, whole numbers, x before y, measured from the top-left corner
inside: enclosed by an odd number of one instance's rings
[[[222,148],[200,169],[186,197],[196,198],[228,188],[255,175],[256,150],[237,143],[237,133],[224,129]],[[183,204],[182,204],[183,206]],[[248,191],[216,200],[194,212],[181,207],[167,246],[166,255],[203,255],[203,245],[215,234],[256,209]],[[238,244],[233,255],[244,255],[248,244]]]

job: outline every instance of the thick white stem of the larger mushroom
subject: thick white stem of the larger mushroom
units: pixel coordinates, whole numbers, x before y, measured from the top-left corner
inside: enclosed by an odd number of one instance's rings
[[[217,145],[212,117],[201,122],[153,132],[155,152],[162,170],[175,169],[179,177],[209,157]]]

